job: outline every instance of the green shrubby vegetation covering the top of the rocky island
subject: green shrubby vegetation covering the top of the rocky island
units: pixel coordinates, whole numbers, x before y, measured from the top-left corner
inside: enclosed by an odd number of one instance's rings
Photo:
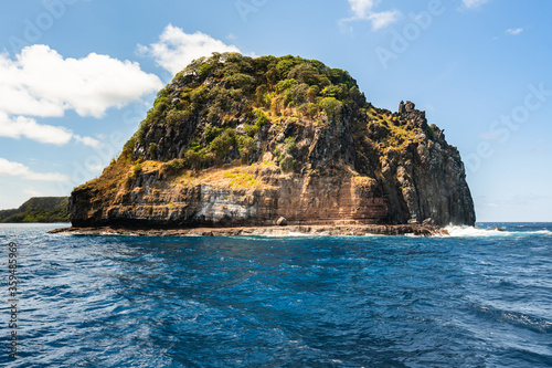
[[[321,123],[340,116],[344,106],[369,104],[349,73],[319,61],[296,56],[213,53],[193,61],[161,90],[138,132],[123,150],[125,157],[169,161],[201,170],[241,159],[257,161],[258,135],[282,129],[288,116]],[[161,130],[185,130],[188,141],[167,155]],[[174,144],[174,141],[171,141]],[[263,150],[274,150],[274,141]],[[174,146],[174,145],[173,145]],[[278,160],[284,170],[295,167],[289,154]]]

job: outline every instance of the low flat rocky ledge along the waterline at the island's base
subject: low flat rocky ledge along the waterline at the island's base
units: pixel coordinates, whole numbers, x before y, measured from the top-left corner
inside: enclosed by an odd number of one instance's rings
[[[289,236],[296,234],[325,236],[373,235],[447,235],[447,230],[432,225],[353,224],[353,225],[288,225],[247,228],[192,228],[192,229],[131,229],[117,227],[62,228],[51,234],[70,233],[85,235],[134,235],[134,236]]]

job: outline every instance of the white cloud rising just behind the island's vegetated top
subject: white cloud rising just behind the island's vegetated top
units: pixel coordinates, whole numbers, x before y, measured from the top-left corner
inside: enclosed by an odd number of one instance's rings
[[[195,59],[211,56],[213,52],[240,52],[240,49],[205,33],[184,33],[182,29],[169,24],[159,36],[159,42],[149,46],[139,44],[138,51],[153,57],[159,66],[174,75]]]

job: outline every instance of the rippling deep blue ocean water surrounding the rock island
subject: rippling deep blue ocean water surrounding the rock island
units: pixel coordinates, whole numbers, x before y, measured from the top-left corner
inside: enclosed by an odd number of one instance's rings
[[[552,224],[479,225],[507,231],[138,238],[1,224],[0,365],[552,367]]]

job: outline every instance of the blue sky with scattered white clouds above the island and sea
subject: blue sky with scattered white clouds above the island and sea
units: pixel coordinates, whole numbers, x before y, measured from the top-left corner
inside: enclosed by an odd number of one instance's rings
[[[9,8],[9,9],[7,9]],[[0,13],[0,209],[97,177],[212,51],[299,55],[460,150],[478,221],[552,221],[552,2],[43,0]]]

